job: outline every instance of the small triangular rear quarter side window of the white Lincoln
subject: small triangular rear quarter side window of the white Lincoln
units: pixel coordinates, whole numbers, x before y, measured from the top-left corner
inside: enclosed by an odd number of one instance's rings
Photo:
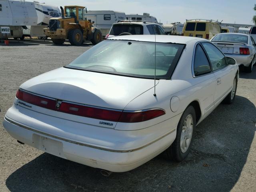
[[[194,57],[194,74],[200,76],[211,72],[209,61],[200,45],[196,46]]]

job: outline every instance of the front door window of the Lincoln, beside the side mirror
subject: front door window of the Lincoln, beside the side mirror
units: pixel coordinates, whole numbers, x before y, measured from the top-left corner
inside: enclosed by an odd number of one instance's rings
[[[218,48],[216,48],[211,43],[202,43],[208,57],[210,58],[210,62],[212,64],[212,70],[216,71],[224,66],[227,66],[226,57]]]

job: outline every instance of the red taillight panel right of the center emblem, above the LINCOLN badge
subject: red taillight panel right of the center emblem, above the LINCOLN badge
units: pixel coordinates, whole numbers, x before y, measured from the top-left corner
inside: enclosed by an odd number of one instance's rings
[[[106,110],[101,108],[71,104],[67,102],[62,102],[58,111],[88,118],[115,122],[118,121],[122,114],[122,111]]]

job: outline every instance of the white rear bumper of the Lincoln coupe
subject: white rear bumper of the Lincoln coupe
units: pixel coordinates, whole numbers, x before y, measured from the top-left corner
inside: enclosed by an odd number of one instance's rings
[[[28,123],[29,122],[30,120],[28,120]],[[44,132],[44,130],[38,130],[39,125],[37,127],[36,124],[37,120],[34,120],[34,124],[31,123],[29,126],[28,124],[25,125],[24,123],[17,122],[8,116],[5,116],[3,122],[4,128],[7,130],[7,132],[13,138],[25,144],[61,158],[112,172],[125,172],[144,164],[168,148],[176,137],[176,128],[171,128],[168,132],[162,134],[162,136],[156,138],[154,141],[151,140],[149,142],[145,142],[144,145],[140,147],[138,147],[137,144],[142,138],[133,138],[131,141],[127,136],[126,141],[119,140],[119,144],[116,143],[116,146],[126,146],[132,144],[134,148],[109,148],[106,147],[106,141],[101,141],[102,145],[100,146],[99,144],[96,146],[86,143],[86,140],[84,140],[84,142],[76,141],[74,139],[71,140],[57,134]],[[45,124],[44,126],[50,127],[51,125]],[[160,125],[158,124],[155,127],[156,131],[157,128],[159,129],[159,126]],[[74,126],[73,128],[76,127]],[[103,129],[119,132],[120,134],[133,132],[135,133],[134,135],[136,135],[144,132],[144,137],[148,137],[145,130],[118,131],[108,128]],[[105,137],[108,136],[105,135]],[[100,132],[98,133],[98,138],[102,138]],[[143,138],[143,140],[145,138]]]

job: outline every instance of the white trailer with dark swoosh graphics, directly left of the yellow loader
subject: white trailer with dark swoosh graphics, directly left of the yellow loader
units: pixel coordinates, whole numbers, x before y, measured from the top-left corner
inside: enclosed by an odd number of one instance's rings
[[[50,18],[61,16],[60,9],[56,6],[39,2],[34,2],[34,5],[37,14],[37,25],[27,26],[27,29],[23,30],[23,35],[45,39],[47,37],[44,34],[44,28],[47,28],[49,25]]]

